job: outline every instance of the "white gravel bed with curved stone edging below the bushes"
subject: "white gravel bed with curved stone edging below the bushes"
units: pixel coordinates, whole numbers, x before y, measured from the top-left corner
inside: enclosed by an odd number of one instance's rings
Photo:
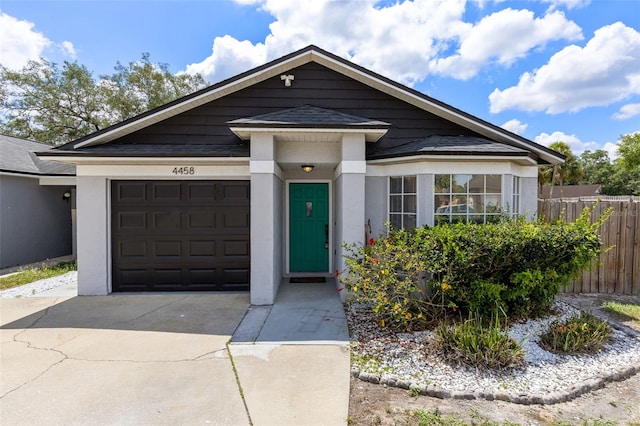
[[[556,302],[554,310],[557,315],[509,328],[509,335],[523,342],[524,365],[482,371],[446,364],[437,351],[429,350],[435,340],[432,332],[394,334],[380,329],[370,315],[352,307],[347,317],[353,342],[353,373],[368,381],[431,389],[441,397],[513,400],[534,396],[539,400],[554,395],[549,401],[554,403],[640,369],[640,338],[613,328],[610,342],[595,355],[556,355],[542,349],[537,341],[550,323],[578,313],[578,309],[562,302]],[[513,402],[537,401],[525,399]]]

